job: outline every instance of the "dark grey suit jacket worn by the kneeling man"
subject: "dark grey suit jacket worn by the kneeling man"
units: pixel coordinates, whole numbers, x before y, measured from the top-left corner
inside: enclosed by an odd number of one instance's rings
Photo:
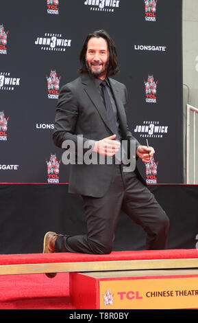
[[[122,140],[135,140],[127,127],[126,106],[127,90],[125,85],[109,78],[114,94],[120,122]],[[79,143],[88,140],[101,140],[112,135],[112,129],[106,115],[106,108],[99,91],[89,74],[82,74],[62,87],[55,115],[53,141],[62,147],[65,140],[75,144],[75,154]],[[83,135],[81,137],[80,135]],[[136,140],[136,147],[140,145]],[[83,149],[86,153],[88,148]],[[69,177],[69,192],[102,197],[108,191],[114,165],[112,164],[72,164]],[[141,177],[140,177],[140,180]]]

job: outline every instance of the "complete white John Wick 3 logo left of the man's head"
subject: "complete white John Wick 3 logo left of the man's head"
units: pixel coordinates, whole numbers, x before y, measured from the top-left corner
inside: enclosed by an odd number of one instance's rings
[[[67,47],[71,47],[71,39],[63,38],[62,34],[45,33],[44,36],[38,36],[34,44],[41,50],[53,52],[65,52]]]

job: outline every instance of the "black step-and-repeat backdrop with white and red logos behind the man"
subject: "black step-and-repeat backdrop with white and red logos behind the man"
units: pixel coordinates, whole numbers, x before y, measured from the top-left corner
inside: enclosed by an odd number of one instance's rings
[[[0,16],[1,183],[68,182],[55,107],[99,29],[116,44],[129,129],[156,150],[140,172],[147,183],[182,183],[182,0],[4,1]]]

